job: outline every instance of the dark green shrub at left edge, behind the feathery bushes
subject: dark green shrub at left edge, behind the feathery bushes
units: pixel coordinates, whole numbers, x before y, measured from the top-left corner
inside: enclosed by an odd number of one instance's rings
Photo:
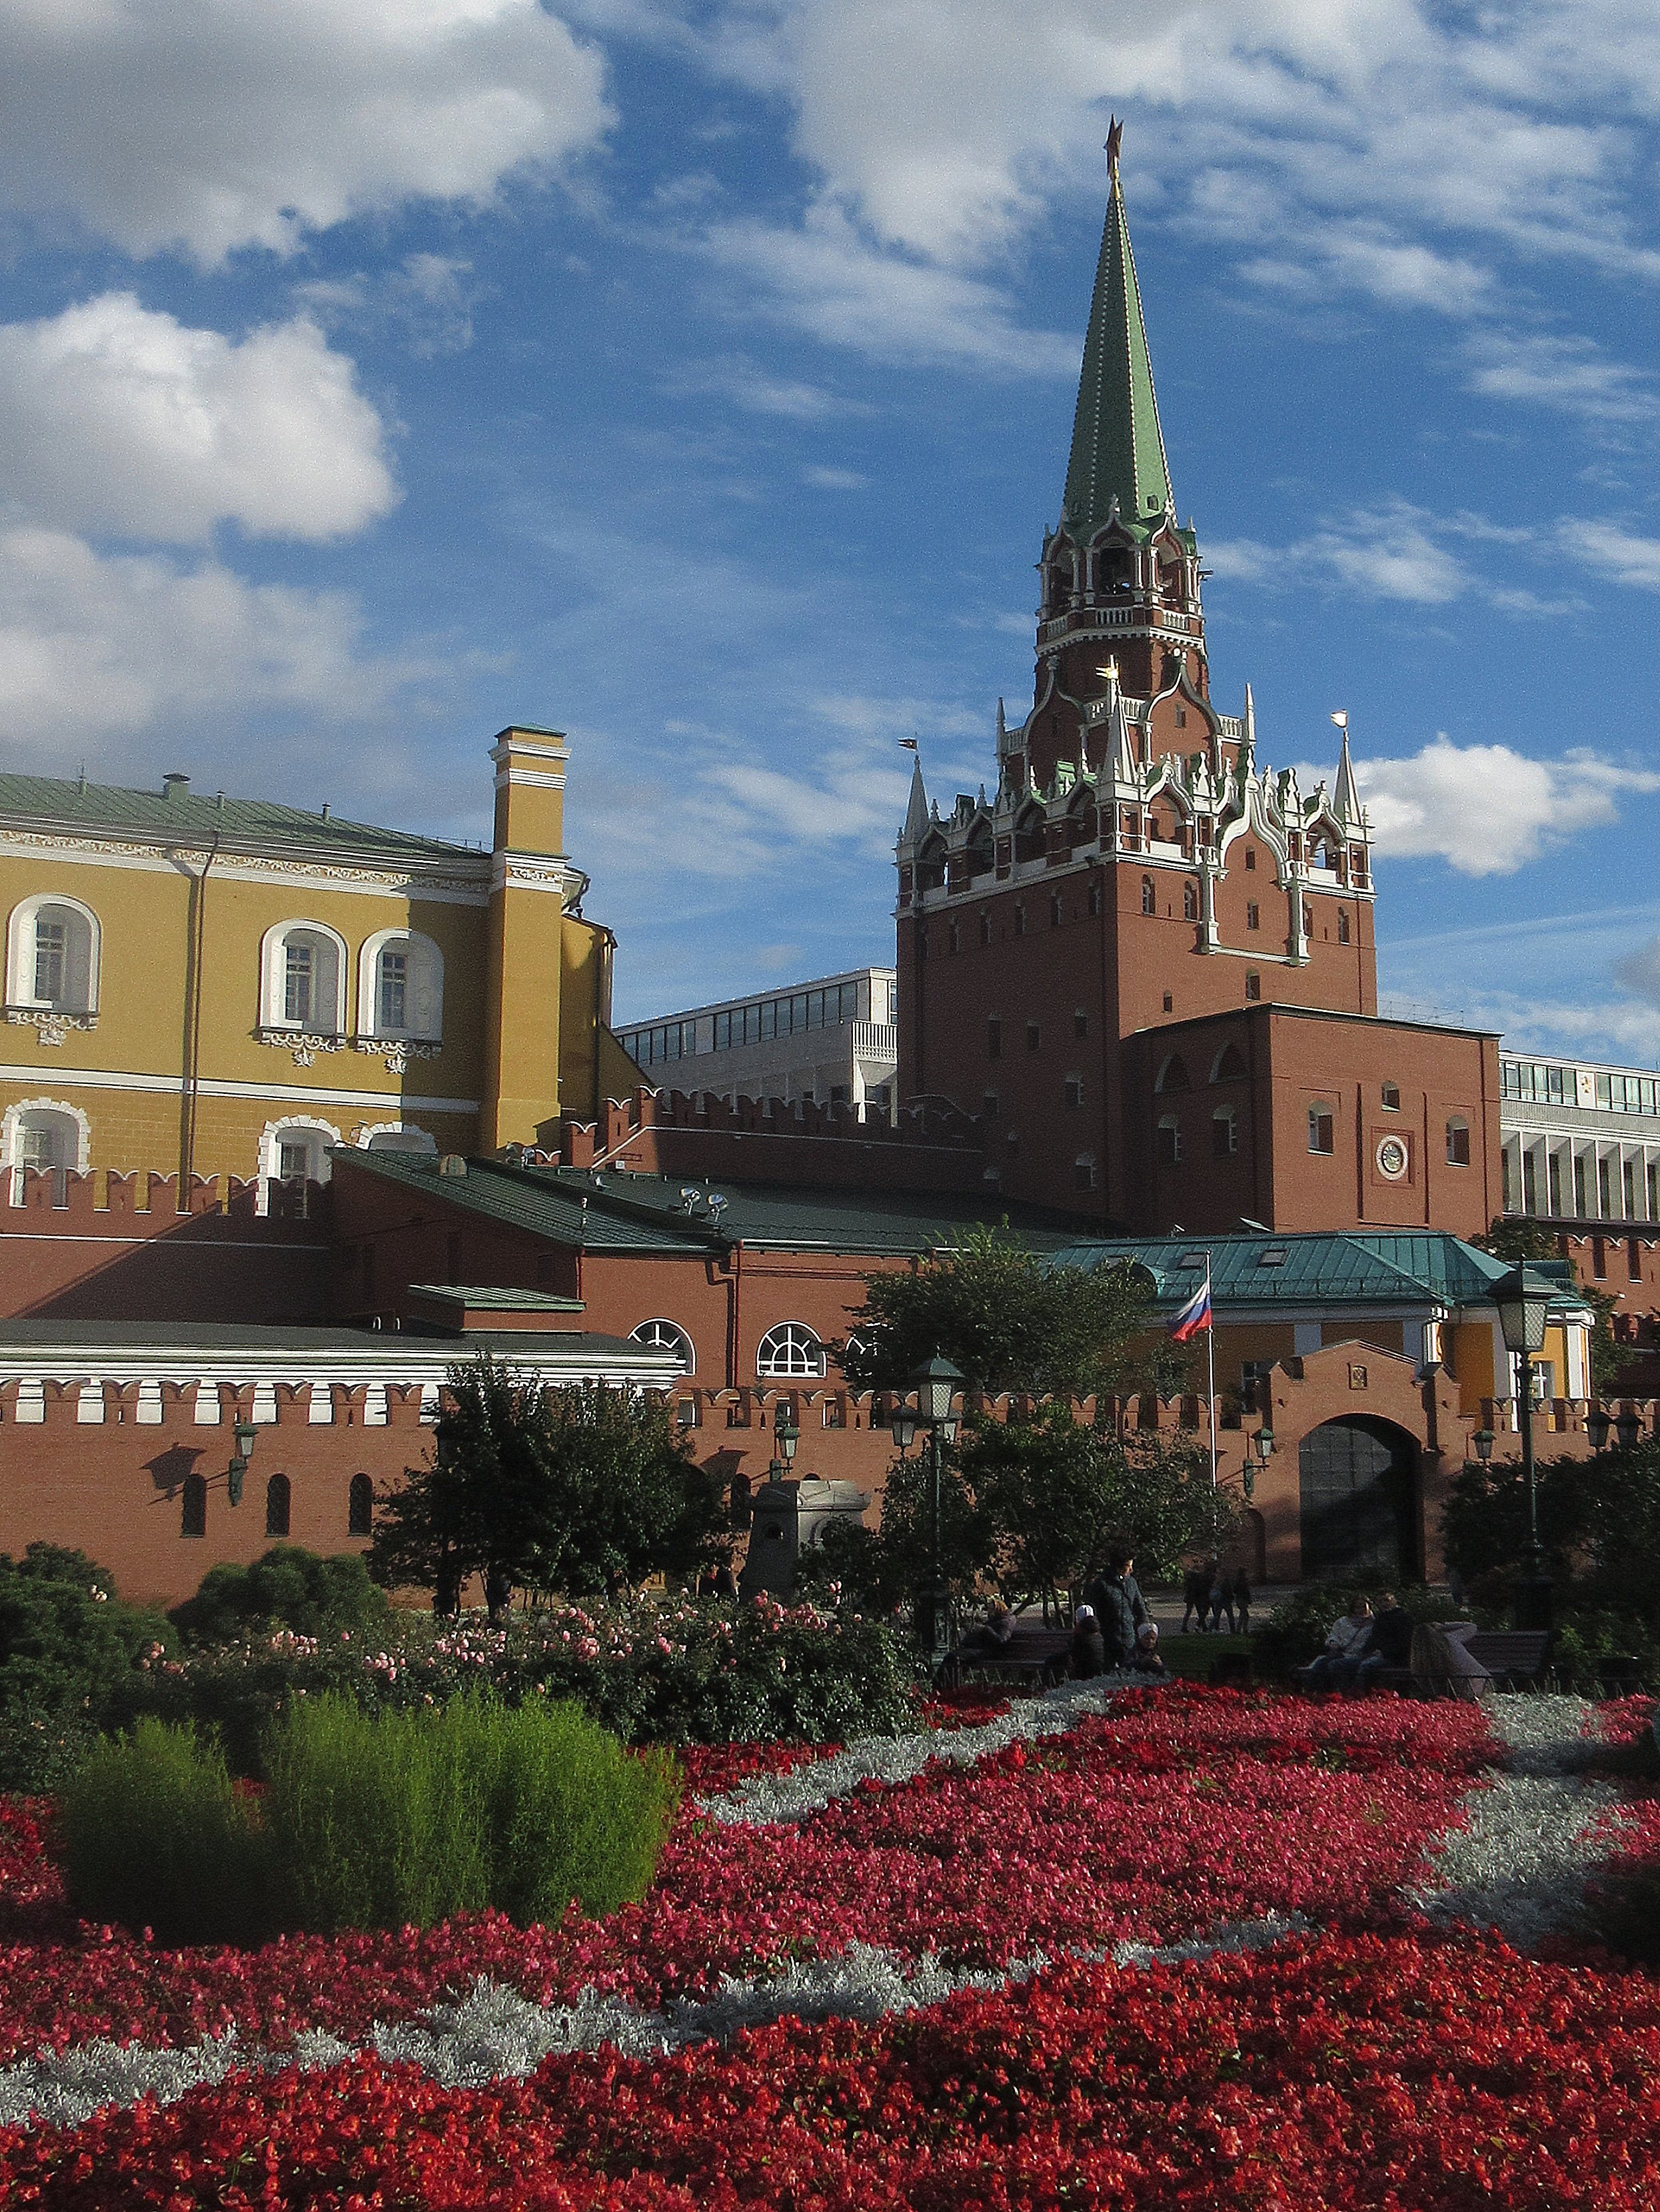
[[[0,1790],[55,1790],[173,1641],[86,1553],[0,1553]]]

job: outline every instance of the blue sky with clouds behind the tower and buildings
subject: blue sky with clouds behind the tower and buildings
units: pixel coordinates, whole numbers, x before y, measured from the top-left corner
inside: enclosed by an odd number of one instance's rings
[[[1124,184],[1217,701],[1383,989],[1660,1057],[1647,0],[0,0],[0,761],[487,834],[622,1018],[892,953],[1029,699]]]

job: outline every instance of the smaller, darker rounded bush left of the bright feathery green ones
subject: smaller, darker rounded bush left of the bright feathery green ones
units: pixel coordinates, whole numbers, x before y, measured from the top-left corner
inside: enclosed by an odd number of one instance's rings
[[[60,1798],[69,1902],[159,1942],[252,1942],[266,1916],[257,1809],[195,1728],[139,1721],[82,1763]]]

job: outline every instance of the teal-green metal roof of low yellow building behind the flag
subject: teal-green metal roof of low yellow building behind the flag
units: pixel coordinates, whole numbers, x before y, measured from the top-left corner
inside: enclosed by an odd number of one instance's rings
[[[1135,1259],[1158,1285],[1160,1305],[1180,1305],[1204,1279],[1211,1254],[1215,1305],[1479,1305],[1505,1263],[1428,1230],[1343,1234],[1122,1237],[1056,1252],[1056,1267],[1096,1267]],[[1186,1263],[1186,1265],[1184,1265]],[[1563,1303],[1578,1303],[1571,1292]]]

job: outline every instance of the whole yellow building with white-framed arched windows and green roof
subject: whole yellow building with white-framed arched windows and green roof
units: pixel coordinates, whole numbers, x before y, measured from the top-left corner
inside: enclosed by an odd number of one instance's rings
[[[626,1095],[569,748],[489,757],[491,852],[188,776],[0,776],[0,1161],[321,1181],[336,1144],[494,1152]]]

